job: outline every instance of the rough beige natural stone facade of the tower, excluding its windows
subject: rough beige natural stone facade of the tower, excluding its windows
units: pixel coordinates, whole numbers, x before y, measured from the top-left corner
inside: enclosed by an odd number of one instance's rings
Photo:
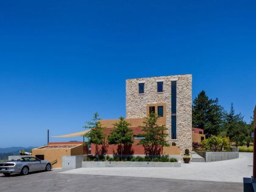
[[[157,93],[157,82],[163,81],[163,93]],[[177,81],[177,139],[171,140],[171,82]],[[138,94],[138,84],[144,83],[144,94]],[[144,118],[147,116],[147,104],[166,104],[166,128],[171,144],[192,150],[192,76],[162,76],[126,80],[126,118]]]

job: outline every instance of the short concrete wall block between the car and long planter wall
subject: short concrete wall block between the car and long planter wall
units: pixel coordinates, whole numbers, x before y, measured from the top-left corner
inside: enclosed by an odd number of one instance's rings
[[[77,169],[82,167],[82,162],[87,155],[77,156],[63,156],[62,157],[62,168],[63,169]]]

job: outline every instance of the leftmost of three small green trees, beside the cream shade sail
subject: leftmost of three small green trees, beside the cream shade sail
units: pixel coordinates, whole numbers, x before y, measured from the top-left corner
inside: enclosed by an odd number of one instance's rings
[[[91,129],[91,131],[86,133],[84,137],[88,138],[88,143],[95,144],[95,156],[98,157],[98,145],[105,143],[105,127],[102,127],[101,121],[99,121],[99,113],[94,113],[94,116],[91,120],[92,121],[87,122],[87,126],[84,126],[86,129]]]

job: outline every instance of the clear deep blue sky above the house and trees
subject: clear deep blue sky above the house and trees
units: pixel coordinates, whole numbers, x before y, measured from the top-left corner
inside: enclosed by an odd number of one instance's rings
[[[0,148],[84,130],[94,112],[125,116],[126,79],[175,74],[249,122],[256,1],[2,0]]]

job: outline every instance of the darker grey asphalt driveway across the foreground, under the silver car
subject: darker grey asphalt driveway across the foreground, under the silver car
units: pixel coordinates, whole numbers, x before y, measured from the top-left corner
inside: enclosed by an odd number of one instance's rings
[[[228,182],[205,182],[195,180],[155,179],[145,177],[95,176],[84,174],[60,174],[61,169],[36,172],[27,176],[0,176],[1,192],[44,192],[44,191],[253,191],[251,185]]]

